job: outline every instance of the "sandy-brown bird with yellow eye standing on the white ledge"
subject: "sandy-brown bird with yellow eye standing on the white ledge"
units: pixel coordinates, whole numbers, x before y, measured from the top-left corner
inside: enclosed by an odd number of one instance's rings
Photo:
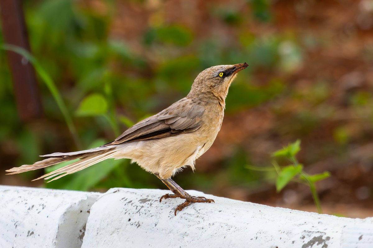
[[[164,194],[160,202],[167,198],[185,199],[176,206],[175,216],[191,203],[212,203],[213,199],[191,196],[171,177],[188,166],[194,171],[195,160],[213,144],[222,126],[229,86],[237,73],[247,67],[245,62],[203,70],[186,97],[136,123],[112,142],[84,151],[41,155],[44,160],[6,171],[18,174],[79,159],[34,179],[53,181],[109,158],[128,158],[156,175],[171,190],[172,194]]]

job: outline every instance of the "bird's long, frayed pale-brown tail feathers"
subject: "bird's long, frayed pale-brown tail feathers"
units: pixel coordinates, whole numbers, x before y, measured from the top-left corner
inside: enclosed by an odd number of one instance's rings
[[[78,161],[73,162],[72,164],[66,165],[62,168],[52,171],[51,173],[42,175],[41,177],[32,180],[32,181],[35,181],[41,178],[49,180],[53,178],[50,181],[54,181],[65,175],[83,170],[84,168],[87,168],[91,165],[97,164],[98,162],[106,160],[107,158],[112,157],[114,153],[115,153],[114,146],[100,146],[97,148],[84,150],[84,151],[78,151],[78,152],[66,152],[66,153],[55,152],[52,154],[40,156],[40,157],[47,157],[47,158],[44,160],[38,161],[34,164],[31,164],[31,165],[25,164],[20,167],[13,167],[6,171],[10,172],[7,175],[18,174],[18,173],[22,173],[26,171],[32,171],[32,170],[37,170],[40,168],[45,168],[51,165],[59,164],[60,162],[76,160],[79,158]]]

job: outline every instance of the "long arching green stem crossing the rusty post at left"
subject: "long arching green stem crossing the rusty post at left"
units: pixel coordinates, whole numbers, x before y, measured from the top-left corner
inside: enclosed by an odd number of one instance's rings
[[[82,149],[81,141],[79,139],[78,133],[76,132],[75,125],[72,121],[72,118],[70,116],[70,113],[65,105],[65,103],[62,100],[62,97],[60,93],[58,92],[58,89],[56,85],[54,84],[53,80],[49,76],[49,74],[43,69],[39,61],[32,56],[28,51],[25,49],[19,47],[19,46],[14,46],[14,45],[9,45],[9,44],[2,44],[0,45],[1,49],[8,50],[8,51],[13,51],[16,52],[23,57],[25,57],[28,61],[31,62],[31,64],[34,66],[35,71],[39,74],[40,78],[44,81],[46,84],[47,88],[49,89],[50,93],[52,94],[54,100],[57,103],[57,106],[59,107],[60,111],[62,112],[62,115],[65,119],[66,125],[68,126],[68,129],[72,135],[73,141],[75,142],[75,145],[78,149]]]

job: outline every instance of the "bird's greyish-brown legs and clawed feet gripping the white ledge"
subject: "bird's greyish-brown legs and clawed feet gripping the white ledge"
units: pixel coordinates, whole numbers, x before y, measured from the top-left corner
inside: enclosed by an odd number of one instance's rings
[[[162,180],[164,184],[172,191],[173,194],[164,194],[161,196],[159,201],[162,201],[162,199],[167,199],[167,198],[177,198],[180,197],[182,199],[185,199],[185,202],[182,204],[179,204],[176,209],[175,209],[175,215],[176,212],[179,210],[181,211],[184,207],[188,206],[192,202],[215,202],[213,199],[207,199],[206,197],[203,196],[191,196],[190,194],[186,193],[185,190],[183,190],[178,184],[175,183],[171,178],[167,179],[162,179],[159,177],[159,175],[156,174],[156,176]]]

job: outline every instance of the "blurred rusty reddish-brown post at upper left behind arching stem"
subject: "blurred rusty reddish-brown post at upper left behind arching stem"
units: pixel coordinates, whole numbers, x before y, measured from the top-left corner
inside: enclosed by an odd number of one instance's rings
[[[20,46],[30,51],[21,0],[0,0],[0,16],[6,44]],[[7,51],[13,77],[18,113],[22,120],[43,115],[35,71],[21,55]]]

